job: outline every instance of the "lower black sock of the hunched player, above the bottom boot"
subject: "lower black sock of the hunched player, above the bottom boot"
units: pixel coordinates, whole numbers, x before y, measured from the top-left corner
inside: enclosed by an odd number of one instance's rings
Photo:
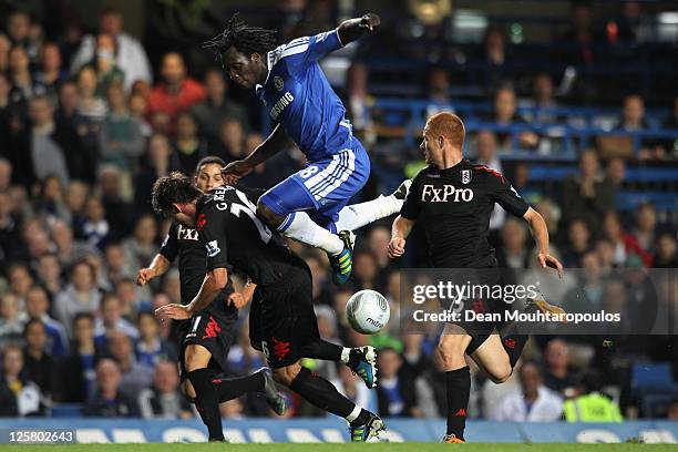
[[[292,380],[289,389],[319,409],[340,418],[350,417],[356,408],[356,403],[341,396],[332,383],[304,367]]]

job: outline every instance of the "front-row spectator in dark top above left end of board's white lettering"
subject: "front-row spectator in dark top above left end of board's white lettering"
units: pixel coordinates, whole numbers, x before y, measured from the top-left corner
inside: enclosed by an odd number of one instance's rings
[[[121,384],[120,367],[112,359],[96,364],[96,389],[84,405],[85,417],[138,418],[138,404],[125,393]]]

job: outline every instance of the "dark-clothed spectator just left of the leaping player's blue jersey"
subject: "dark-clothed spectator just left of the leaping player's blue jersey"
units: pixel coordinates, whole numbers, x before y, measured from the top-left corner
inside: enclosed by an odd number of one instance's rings
[[[227,88],[224,71],[219,68],[208,69],[205,73],[207,96],[192,109],[202,133],[210,144],[222,140],[222,124],[226,119],[235,119],[242,124],[247,123],[245,109],[238,102],[227,99]]]

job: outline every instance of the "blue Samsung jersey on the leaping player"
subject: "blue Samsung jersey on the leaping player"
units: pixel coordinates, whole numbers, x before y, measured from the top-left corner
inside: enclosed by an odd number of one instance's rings
[[[268,52],[268,75],[256,92],[309,162],[353,147],[351,123],[318,60],[340,49],[337,30],[296,39]]]

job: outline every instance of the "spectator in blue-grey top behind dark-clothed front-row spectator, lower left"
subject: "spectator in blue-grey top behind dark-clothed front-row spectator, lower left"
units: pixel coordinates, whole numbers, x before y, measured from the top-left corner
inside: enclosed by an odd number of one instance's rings
[[[137,394],[151,386],[153,370],[136,362],[132,339],[122,331],[109,333],[109,351],[121,371],[121,390],[129,394]]]

